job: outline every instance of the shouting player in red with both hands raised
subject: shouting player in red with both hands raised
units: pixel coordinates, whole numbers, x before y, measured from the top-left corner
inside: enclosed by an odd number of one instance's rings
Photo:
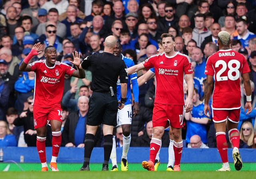
[[[46,60],[39,60],[28,65],[33,56],[42,51],[40,42],[35,44],[28,56],[20,64],[20,71],[36,73],[36,84],[34,90],[34,127],[37,132],[36,147],[39,158],[42,163],[42,171],[48,171],[46,163],[46,125],[50,123],[52,128],[52,160],[50,169],[58,171],[57,157],[61,144],[61,125],[62,125],[62,109],[60,101],[64,90],[64,76],[74,76],[77,78],[85,78],[84,70],[79,69],[80,55],[78,52],[73,53],[74,61],[70,61],[77,66],[75,70],[71,66],[57,62],[57,51],[54,46],[47,46],[44,49],[44,57]]]

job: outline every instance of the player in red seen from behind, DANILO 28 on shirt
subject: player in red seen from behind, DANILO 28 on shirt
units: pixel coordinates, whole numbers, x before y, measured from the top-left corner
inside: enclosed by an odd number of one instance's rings
[[[212,117],[216,129],[217,148],[223,162],[222,168],[218,171],[230,171],[228,164],[228,144],[226,141],[226,128],[230,141],[234,147],[233,158],[236,170],[242,168],[239,142],[240,136],[237,129],[240,107],[241,91],[240,77],[244,81],[246,91],[245,110],[247,114],[252,111],[251,85],[249,79],[250,68],[246,58],[229,48],[230,34],[226,31],[218,33],[219,51],[210,56],[206,62],[205,74],[207,75],[204,91],[204,114],[209,117],[209,98],[212,91],[213,77],[215,80],[212,94]]]

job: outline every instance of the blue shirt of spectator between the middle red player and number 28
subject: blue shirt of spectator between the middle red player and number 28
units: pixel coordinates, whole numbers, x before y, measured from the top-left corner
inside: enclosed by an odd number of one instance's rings
[[[201,103],[198,106],[193,105],[191,114],[192,114],[192,117],[199,117],[199,118],[207,117],[206,115],[204,115],[204,103]],[[206,125],[195,123],[192,121],[186,121],[186,122],[187,122],[186,143],[189,143],[190,137],[195,134],[201,137],[201,140],[203,143],[207,143]]]

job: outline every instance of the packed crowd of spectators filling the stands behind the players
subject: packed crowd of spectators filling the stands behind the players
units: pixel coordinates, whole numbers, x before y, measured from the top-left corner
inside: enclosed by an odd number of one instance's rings
[[[204,70],[207,58],[218,51],[218,33],[226,30],[232,37],[230,48],[244,54],[251,69],[253,110],[248,115],[242,110],[246,95],[241,83],[240,147],[256,148],[254,0],[0,0],[0,9],[0,147],[36,146],[32,105],[35,74],[18,69],[34,44],[40,42],[41,51],[54,46],[57,60],[76,68],[70,62],[72,52],[78,51],[81,60],[101,53],[104,39],[113,35],[122,45],[122,54],[138,64],[158,53],[162,33],[175,37],[175,50],[188,55],[194,68],[193,109],[184,116],[182,128],[184,147],[216,147],[214,123],[211,116],[204,115]],[[40,53],[30,62],[44,58]],[[85,134],[92,94],[90,70],[85,70],[84,79],[65,77],[64,91],[60,91],[62,146],[84,147],[84,135],[80,134]],[[146,72],[140,70],[138,77]],[[131,146],[150,146],[155,86],[150,79],[139,87],[140,114],[132,116]],[[48,127],[46,146],[52,145],[50,130]],[[95,146],[102,147],[102,139],[99,127]],[[116,147],[122,147],[122,140],[122,128],[118,127]],[[162,147],[168,147],[169,142],[166,129]]]

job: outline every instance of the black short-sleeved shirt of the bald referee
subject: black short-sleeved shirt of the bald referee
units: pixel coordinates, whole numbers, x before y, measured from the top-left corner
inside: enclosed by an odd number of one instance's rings
[[[128,74],[124,60],[114,56],[108,52],[93,54],[84,59],[81,64],[82,68],[87,69],[91,66],[92,69],[92,84],[91,90],[96,92],[108,92],[112,86],[116,93],[116,82],[118,76],[120,83],[128,83]]]

